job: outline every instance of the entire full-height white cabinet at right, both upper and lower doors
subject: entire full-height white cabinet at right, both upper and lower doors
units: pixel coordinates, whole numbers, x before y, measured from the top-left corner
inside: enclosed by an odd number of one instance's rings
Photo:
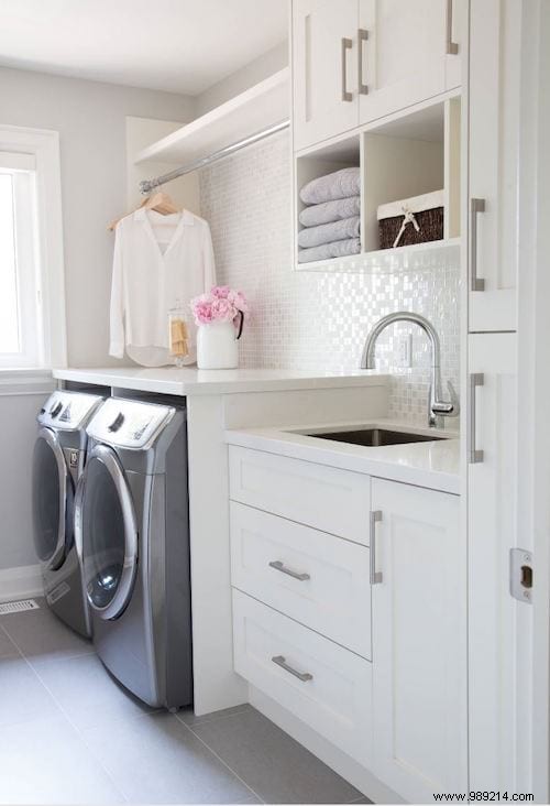
[[[521,0],[471,0],[468,336],[463,374],[469,538],[470,789],[532,789],[531,535],[518,514],[518,284],[525,83]],[[527,85],[528,86],[528,85]],[[521,564],[513,551],[522,548]],[[525,576],[524,576],[525,574]],[[524,584],[520,584],[522,580]],[[512,596],[513,585],[518,598]]]

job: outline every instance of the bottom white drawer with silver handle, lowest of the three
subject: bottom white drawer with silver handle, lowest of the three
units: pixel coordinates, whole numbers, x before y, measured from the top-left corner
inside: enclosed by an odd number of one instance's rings
[[[233,641],[235,672],[366,763],[372,731],[369,661],[239,590],[233,590]]]

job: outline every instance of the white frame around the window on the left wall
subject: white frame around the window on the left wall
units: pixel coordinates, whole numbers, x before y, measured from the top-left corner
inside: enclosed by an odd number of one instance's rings
[[[38,355],[35,366],[0,362],[0,375],[24,374],[67,366],[65,270],[63,251],[59,133],[0,124],[0,152],[25,154],[35,163],[36,316]]]

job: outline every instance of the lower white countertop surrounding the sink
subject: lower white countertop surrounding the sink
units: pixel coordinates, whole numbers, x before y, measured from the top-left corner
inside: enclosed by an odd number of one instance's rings
[[[395,431],[411,431],[433,436],[452,432],[438,432],[418,427],[410,423],[391,420],[376,420],[369,423],[334,423],[331,426],[285,426],[271,428],[245,428],[227,431],[226,442],[243,448],[264,450],[305,461],[314,461],[330,467],[354,470],[383,479],[402,481],[407,484],[427,487],[453,494],[460,494],[460,451],[459,437],[438,442],[408,443],[405,445],[386,445],[383,447],[365,447],[348,445],[312,436],[305,436],[302,431],[323,432],[354,428],[384,427]]]

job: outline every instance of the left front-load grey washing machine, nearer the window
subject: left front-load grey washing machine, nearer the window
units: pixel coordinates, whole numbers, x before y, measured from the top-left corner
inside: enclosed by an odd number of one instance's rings
[[[103,399],[54,392],[41,409],[33,456],[34,545],[50,608],[66,624],[91,635],[88,602],[74,544],[75,490],[84,470],[86,426]]]

